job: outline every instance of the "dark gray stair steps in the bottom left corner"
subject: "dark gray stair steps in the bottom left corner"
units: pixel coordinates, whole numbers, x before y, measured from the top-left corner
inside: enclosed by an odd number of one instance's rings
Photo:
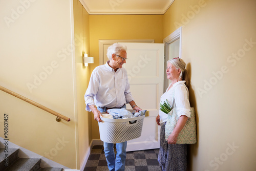
[[[7,152],[8,151],[8,152]],[[62,168],[41,168],[40,158],[19,158],[19,148],[0,148],[0,170],[5,171],[62,171]]]

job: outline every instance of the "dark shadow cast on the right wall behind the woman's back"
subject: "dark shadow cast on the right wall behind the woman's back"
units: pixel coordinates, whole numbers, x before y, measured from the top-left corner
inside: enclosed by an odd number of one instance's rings
[[[187,63],[186,66],[187,66],[186,70],[187,70],[189,78],[191,80],[191,65],[190,65],[190,63]],[[199,141],[199,117],[198,117],[198,112],[197,112],[197,102],[196,102],[195,91],[194,91],[193,87],[191,86],[191,82],[189,85],[189,102],[190,102],[190,106],[195,108],[196,124],[197,124],[197,143],[187,146],[187,170],[192,170],[193,156],[197,156],[198,146],[199,146],[199,143],[198,143],[198,141]]]

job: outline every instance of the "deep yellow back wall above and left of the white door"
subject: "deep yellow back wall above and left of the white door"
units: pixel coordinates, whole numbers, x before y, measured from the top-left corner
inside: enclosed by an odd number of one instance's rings
[[[90,15],[92,70],[99,65],[99,39],[154,39],[163,42],[163,15]],[[92,117],[93,139],[99,139],[98,123]]]

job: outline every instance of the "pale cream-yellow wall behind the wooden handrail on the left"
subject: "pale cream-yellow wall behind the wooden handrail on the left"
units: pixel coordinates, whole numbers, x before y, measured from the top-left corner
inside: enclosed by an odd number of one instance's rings
[[[72,8],[67,0],[1,2],[0,85],[71,122],[56,122],[54,115],[0,91],[0,136],[8,113],[9,141],[77,168]]]

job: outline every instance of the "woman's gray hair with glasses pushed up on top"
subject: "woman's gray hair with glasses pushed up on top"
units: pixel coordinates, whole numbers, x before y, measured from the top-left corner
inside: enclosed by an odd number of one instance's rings
[[[167,63],[171,63],[177,70],[178,69],[181,70],[179,79],[186,81],[185,85],[189,89],[189,75],[186,70],[186,63],[184,62],[184,60],[181,58],[173,58],[173,59],[169,59]]]

